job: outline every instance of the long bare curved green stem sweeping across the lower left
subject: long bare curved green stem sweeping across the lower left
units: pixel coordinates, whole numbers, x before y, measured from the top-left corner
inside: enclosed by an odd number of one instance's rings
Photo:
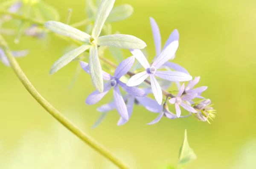
[[[26,90],[33,96],[33,98],[44,107],[47,112],[52,115],[56,120],[58,120],[64,127],[70,130],[74,135],[79,137],[84,143],[95,149],[99,154],[103,155],[105,158],[110,160],[120,169],[129,169],[129,167],[122,162],[119,158],[113,155],[108,149],[99,144],[96,140],[91,138],[89,135],[84,133],[81,129],[72,124],[67,118],[64,117],[55,107],[53,107],[47,100],[45,100],[40,93],[35,89],[35,87],[29,82],[29,79],[21,70],[19,64],[17,63],[15,57],[12,55],[11,50],[5,39],[0,35],[0,46],[3,48],[3,51],[6,53],[6,56],[10,62],[12,69],[15,71],[16,75],[22,82],[23,86],[26,87]]]

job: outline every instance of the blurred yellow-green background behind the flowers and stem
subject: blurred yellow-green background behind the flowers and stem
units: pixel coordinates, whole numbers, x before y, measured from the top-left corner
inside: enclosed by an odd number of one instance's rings
[[[45,0],[65,20],[72,8],[71,23],[83,20],[84,0]],[[5,36],[13,50],[29,49],[18,59],[37,90],[82,130],[92,135],[134,169],[155,169],[177,163],[178,151],[187,129],[190,146],[198,156],[188,169],[255,169],[256,159],[256,1],[254,0],[116,0],[129,3],[134,14],[113,24],[113,31],[143,39],[150,58],[154,43],[149,17],[157,21],[166,41],[173,29],[180,33],[174,62],[192,76],[201,76],[208,86],[203,96],[217,110],[212,124],[196,118],[169,120],[146,125],[157,114],[135,107],[130,121],[116,126],[118,114],[110,112],[95,129],[96,107],[85,98],[94,90],[87,73],[81,72],[71,90],[67,86],[76,69],[70,63],[49,76],[49,68],[69,44],[49,36],[39,41],[23,37],[20,44]],[[125,56],[131,56],[125,51]],[[111,56],[106,57],[112,59]],[[112,59],[113,60],[113,59]],[[171,110],[174,110],[172,107]],[[11,68],[0,64],[0,169],[90,169],[115,168],[53,119],[25,90]]]

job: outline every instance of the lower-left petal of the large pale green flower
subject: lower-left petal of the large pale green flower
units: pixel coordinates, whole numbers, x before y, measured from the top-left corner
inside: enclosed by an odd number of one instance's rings
[[[90,45],[81,45],[80,47],[74,49],[73,51],[68,52],[67,54],[64,54],[59,58],[51,67],[50,69],[50,75],[57,72],[59,69],[67,65],[69,62],[71,62],[76,56],[80,55],[84,51],[86,51],[88,48],[90,48]]]

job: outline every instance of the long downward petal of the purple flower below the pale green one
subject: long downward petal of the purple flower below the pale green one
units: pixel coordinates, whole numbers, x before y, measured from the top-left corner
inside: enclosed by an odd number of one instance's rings
[[[128,111],[127,111],[127,108],[126,108],[126,105],[125,105],[125,101],[122,98],[122,95],[120,93],[118,85],[116,85],[114,87],[113,96],[114,96],[114,101],[115,101],[115,104],[116,104],[117,112],[119,113],[119,115],[122,118],[124,118],[125,120],[128,120],[129,119]]]

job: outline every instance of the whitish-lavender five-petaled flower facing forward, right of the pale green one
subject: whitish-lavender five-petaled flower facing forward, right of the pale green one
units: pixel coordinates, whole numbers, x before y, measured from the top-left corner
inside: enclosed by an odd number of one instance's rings
[[[162,89],[159,83],[157,82],[157,79],[155,78],[155,76],[160,77],[162,79],[169,80],[169,81],[174,81],[174,82],[189,81],[192,79],[192,76],[183,72],[157,70],[169,59],[173,58],[175,52],[177,51],[178,44],[179,43],[176,40],[172,42],[170,45],[168,45],[157,57],[157,59],[154,60],[152,65],[149,65],[142,51],[138,49],[130,50],[131,53],[135,56],[135,58],[145,68],[145,71],[137,73],[136,75],[132,76],[128,80],[127,85],[128,86],[140,85],[149,76],[154,97],[157,100],[158,104],[162,104],[162,100],[163,100]]]

